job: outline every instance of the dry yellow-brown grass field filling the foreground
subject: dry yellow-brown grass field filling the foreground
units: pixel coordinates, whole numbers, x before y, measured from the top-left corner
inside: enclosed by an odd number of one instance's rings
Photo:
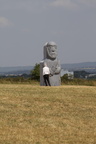
[[[0,144],[96,144],[96,87],[0,84]]]

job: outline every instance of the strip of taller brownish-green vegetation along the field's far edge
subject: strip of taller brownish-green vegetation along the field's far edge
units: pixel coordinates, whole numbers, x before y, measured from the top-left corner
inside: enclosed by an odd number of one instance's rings
[[[92,79],[64,79],[61,78],[62,85],[85,85],[85,86],[96,86],[96,80]],[[32,84],[32,85],[40,85],[39,81],[31,80],[30,78],[23,78],[23,77],[6,77],[0,78],[0,84]]]

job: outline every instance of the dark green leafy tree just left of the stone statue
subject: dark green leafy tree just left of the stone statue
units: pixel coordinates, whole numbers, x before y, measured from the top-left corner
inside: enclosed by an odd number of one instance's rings
[[[35,64],[34,69],[31,71],[31,79],[40,81],[40,64]]]

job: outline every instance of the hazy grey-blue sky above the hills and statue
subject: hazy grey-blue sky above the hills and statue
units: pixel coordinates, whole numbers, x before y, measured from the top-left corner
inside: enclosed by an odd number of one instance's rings
[[[96,0],[0,0],[0,67],[40,63],[50,41],[61,64],[96,62]]]

